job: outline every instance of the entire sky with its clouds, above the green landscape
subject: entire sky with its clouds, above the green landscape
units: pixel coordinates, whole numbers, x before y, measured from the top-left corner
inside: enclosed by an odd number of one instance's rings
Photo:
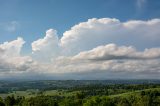
[[[0,79],[159,79],[159,0],[0,0]]]

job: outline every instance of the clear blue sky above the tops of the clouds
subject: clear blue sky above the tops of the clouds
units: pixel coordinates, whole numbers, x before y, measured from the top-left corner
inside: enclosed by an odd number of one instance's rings
[[[140,1],[141,7],[138,5]],[[0,0],[0,42],[22,36],[24,49],[30,51],[30,43],[49,28],[61,37],[79,22],[89,18],[117,18],[121,21],[148,20],[160,17],[159,0]],[[11,25],[14,30],[6,30]]]

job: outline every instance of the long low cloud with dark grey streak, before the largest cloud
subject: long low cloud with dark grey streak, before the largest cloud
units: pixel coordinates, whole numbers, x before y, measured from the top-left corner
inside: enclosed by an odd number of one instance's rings
[[[123,70],[134,72],[136,70],[140,70],[148,72],[148,70],[153,68],[152,65],[154,65],[154,71],[159,72],[159,70],[157,70],[157,67],[158,69],[160,68],[158,65],[159,59],[160,48],[151,48],[144,51],[137,51],[131,46],[117,46],[115,44],[107,44],[105,46],[98,46],[89,51],[80,52],[75,56],[59,57],[55,61],[55,64],[60,65],[59,67],[71,67],[70,69],[67,68],[67,71],[74,70],[74,72],[77,72],[78,70],[79,72],[83,72],[83,69],[85,69],[84,72],[89,70],[100,71],[102,69],[105,71]],[[143,67],[147,68],[144,69]]]

